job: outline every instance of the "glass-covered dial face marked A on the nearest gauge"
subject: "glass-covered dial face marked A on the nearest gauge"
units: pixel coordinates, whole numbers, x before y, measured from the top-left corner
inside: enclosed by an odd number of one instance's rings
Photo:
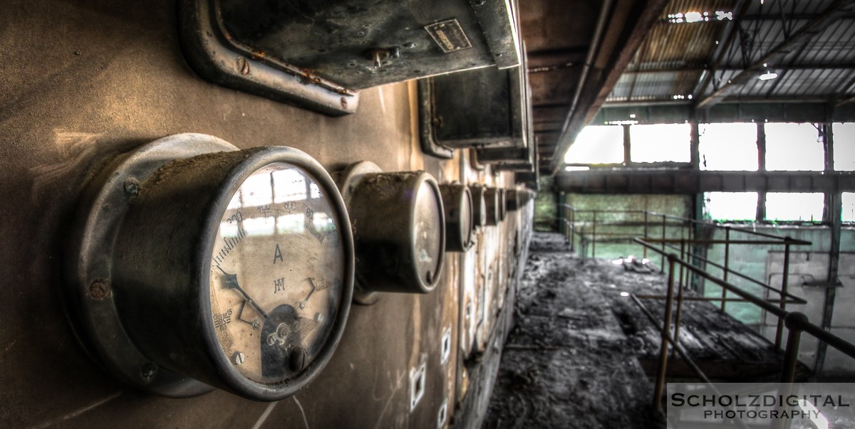
[[[304,168],[275,162],[228,204],[211,251],[211,318],[238,373],[291,379],[333,334],[345,285],[341,220]]]

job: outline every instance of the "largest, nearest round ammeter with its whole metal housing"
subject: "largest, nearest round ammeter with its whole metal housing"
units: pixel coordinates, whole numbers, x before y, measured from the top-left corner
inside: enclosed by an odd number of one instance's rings
[[[320,164],[182,134],[103,177],[83,204],[73,290],[105,367],[166,396],[215,386],[261,401],[321,371],[344,330],[354,259]]]

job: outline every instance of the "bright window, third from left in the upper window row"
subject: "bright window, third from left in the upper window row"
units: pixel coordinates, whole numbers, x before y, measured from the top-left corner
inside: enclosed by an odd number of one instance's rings
[[[700,169],[757,171],[757,124],[699,124],[698,132]]]

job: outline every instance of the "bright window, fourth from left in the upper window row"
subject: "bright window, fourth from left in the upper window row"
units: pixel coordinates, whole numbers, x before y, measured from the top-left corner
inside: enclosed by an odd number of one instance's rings
[[[825,150],[813,124],[766,124],[766,169],[823,171]]]

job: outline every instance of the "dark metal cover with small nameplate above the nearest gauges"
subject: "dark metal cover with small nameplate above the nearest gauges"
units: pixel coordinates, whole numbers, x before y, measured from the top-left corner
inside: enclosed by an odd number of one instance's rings
[[[519,63],[516,9],[510,0],[214,3],[234,44],[352,90]],[[457,23],[457,30],[450,22]],[[425,31],[426,26],[442,26],[446,40],[435,41],[442,36]]]

